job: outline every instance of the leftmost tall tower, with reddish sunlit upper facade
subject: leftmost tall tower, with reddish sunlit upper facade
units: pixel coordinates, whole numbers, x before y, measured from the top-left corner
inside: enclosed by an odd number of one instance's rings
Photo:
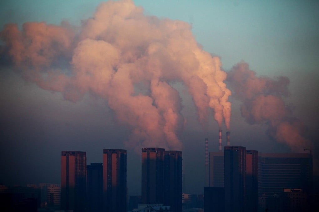
[[[86,195],[86,153],[62,151],[61,210],[84,211]]]

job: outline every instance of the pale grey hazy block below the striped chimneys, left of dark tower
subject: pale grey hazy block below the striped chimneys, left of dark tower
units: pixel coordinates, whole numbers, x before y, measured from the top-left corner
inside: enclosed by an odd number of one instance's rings
[[[224,187],[224,152],[209,153],[209,187]]]

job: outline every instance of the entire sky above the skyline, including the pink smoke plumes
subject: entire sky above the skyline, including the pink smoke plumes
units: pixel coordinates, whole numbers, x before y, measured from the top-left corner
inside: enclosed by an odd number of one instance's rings
[[[140,147],[158,146],[183,151],[202,194],[219,128],[223,146],[230,130],[263,153],[311,149],[319,175],[317,1],[100,3],[0,3],[0,183],[60,183],[61,151],[123,148],[136,195]]]

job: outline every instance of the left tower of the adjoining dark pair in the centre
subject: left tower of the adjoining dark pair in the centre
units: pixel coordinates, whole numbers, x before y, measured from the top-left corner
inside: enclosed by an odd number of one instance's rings
[[[164,202],[163,148],[142,148],[142,203]]]

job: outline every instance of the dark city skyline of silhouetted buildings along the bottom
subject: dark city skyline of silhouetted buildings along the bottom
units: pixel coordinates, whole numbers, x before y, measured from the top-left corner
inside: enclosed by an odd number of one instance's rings
[[[141,164],[142,173],[140,174],[142,182],[145,181],[146,184],[149,184],[144,187],[149,191],[142,193],[142,196],[144,195],[142,199],[151,202],[148,204],[164,202],[164,206],[170,206],[174,211],[182,210],[182,196],[183,201],[184,196],[188,196],[186,199],[189,199],[189,196],[192,196],[191,199],[196,199],[183,202],[184,209],[192,205],[191,207],[218,207],[220,211],[225,205],[227,211],[230,210],[229,207],[236,207],[239,211],[256,211],[259,203],[258,210],[264,211],[265,208],[279,209],[281,207],[284,207],[284,209],[305,206],[313,208],[316,204],[314,201],[318,194],[317,190],[313,190],[312,187],[311,154],[263,153],[258,156],[256,150],[246,150],[245,147],[226,146],[224,149],[224,154],[210,152],[210,159],[212,159],[212,156],[224,158],[221,155],[225,155],[225,188],[219,185],[204,187],[206,198],[203,195],[197,196],[184,192],[182,194],[182,152],[165,151],[165,149],[156,147],[142,148],[143,162]],[[165,155],[164,158],[163,154]],[[32,199],[34,204],[38,202],[38,208],[54,207],[57,209],[60,206],[59,192],[61,191],[61,209],[79,211],[79,209],[86,208],[91,211],[93,209],[92,197],[94,196],[95,209],[93,210],[98,211],[100,210],[98,208],[102,205],[101,196],[102,189],[104,189],[103,202],[108,202],[108,207],[104,210],[125,211],[124,205],[128,204],[125,185],[127,177],[130,177],[126,174],[126,150],[103,149],[103,163],[91,163],[87,166],[85,166],[86,152],[62,151],[61,155],[61,186],[50,183],[40,183],[39,187],[36,184],[28,184],[26,187],[1,185],[0,193],[7,198],[8,202],[19,200],[19,204],[15,206],[14,204],[10,205],[10,203],[4,204],[5,201],[3,201],[4,208],[23,207],[23,204],[26,203],[23,201],[28,202]],[[214,163],[215,166],[215,159],[210,160],[210,164]],[[219,163],[219,161],[217,162]],[[213,169],[214,178],[219,178],[221,175],[221,173],[215,175],[215,172],[222,172],[222,175],[224,175],[223,170],[216,169],[214,166],[210,166],[210,169]],[[158,173],[156,173],[157,171]],[[145,180],[145,176],[149,180]],[[287,179],[287,176],[290,177]],[[102,183],[102,181],[104,182]],[[86,197],[83,195],[85,194],[85,185],[86,194],[88,194]],[[159,186],[164,189],[158,189]],[[225,197],[220,197],[221,193],[224,193]],[[37,195],[38,197],[35,197]],[[145,195],[151,198],[145,198]],[[216,195],[219,195],[219,197],[216,198]],[[23,196],[29,199],[21,199]],[[91,196],[91,199],[89,196]],[[164,196],[163,201],[160,201],[161,196]],[[203,197],[204,199],[202,199]],[[157,198],[157,200],[154,198]],[[201,203],[201,200],[204,202]],[[223,201],[225,200],[224,204]],[[87,205],[83,202],[87,202]],[[117,203],[114,205],[112,202]],[[29,203],[31,204],[31,202]],[[118,208],[119,205],[121,205],[120,208]],[[142,205],[141,207],[143,207]]]

